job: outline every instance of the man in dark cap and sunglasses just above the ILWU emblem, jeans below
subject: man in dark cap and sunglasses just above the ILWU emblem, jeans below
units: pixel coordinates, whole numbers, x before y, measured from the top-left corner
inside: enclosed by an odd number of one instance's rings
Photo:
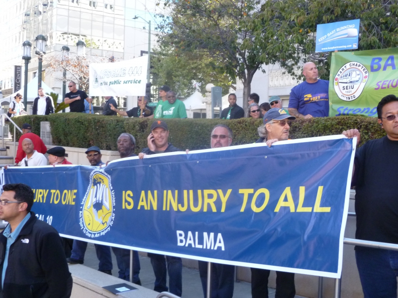
[[[97,146],[92,146],[86,151],[87,159],[91,165],[100,166],[104,164],[101,161],[101,150]],[[98,271],[112,275],[112,257],[110,255],[110,247],[100,244],[94,244],[96,248],[97,258],[100,261]],[[70,264],[83,264],[84,255],[87,250],[87,242],[80,240],[73,240],[72,254],[70,258],[67,258],[67,262]]]

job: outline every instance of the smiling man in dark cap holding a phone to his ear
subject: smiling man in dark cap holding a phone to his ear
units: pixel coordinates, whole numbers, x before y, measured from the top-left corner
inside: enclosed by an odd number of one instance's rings
[[[169,128],[163,120],[156,120],[151,125],[151,133],[148,136],[148,148],[144,148],[138,154],[139,158],[144,158],[147,154],[158,154],[166,152],[182,151],[169,143]],[[167,292],[181,297],[183,292],[182,270],[183,263],[181,258],[148,253],[155,273],[156,292]],[[167,262],[167,267],[166,267]],[[169,288],[166,286],[167,272],[169,272]]]

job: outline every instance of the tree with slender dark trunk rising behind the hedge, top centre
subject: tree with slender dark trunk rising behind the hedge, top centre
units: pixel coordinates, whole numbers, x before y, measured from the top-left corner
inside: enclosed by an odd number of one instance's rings
[[[166,0],[168,15],[160,15],[161,43],[179,53],[205,53],[230,77],[243,83],[243,108],[254,74],[262,62],[262,49],[253,42],[254,31],[244,18],[259,13],[260,0]]]

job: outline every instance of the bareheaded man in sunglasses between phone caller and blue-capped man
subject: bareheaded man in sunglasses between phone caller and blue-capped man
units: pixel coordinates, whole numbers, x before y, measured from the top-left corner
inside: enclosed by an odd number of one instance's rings
[[[226,125],[216,125],[211,131],[211,148],[229,147],[232,143],[232,131]],[[203,294],[207,290],[207,262],[199,262],[199,276]],[[212,298],[232,298],[234,286],[235,266],[225,264],[211,264],[211,296]]]

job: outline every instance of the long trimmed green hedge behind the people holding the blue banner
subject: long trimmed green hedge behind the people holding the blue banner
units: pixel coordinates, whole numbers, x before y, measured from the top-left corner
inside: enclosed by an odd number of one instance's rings
[[[53,143],[65,147],[117,150],[116,140],[121,133],[130,133],[136,139],[136,150],[147,147],[147,137],[154,119],[122,118],[80,113],[57,113],[49,116],[26,115],[14,117],[21,127],[30,123],[33,132],[40,134],[40,122],[49,121]],[[242,118],[221,119],[165,119],[169,126],[169,142],[180,149],[207,149],[210,147],[211,129],[216,124],[226,124],[233,132],[232,145],[250,144],[258,139],[257,128],[261,119]],[[299,119],[293,122],[291,139],[338,135],[342,131],[357,128],[361,132],[361,144],[370,139],[385,136],[385,131],[377,124],[377,119],[361,116]],[[11,129],[12,131],[12,129]],[[18,136],[19,138],[19,132]]]

